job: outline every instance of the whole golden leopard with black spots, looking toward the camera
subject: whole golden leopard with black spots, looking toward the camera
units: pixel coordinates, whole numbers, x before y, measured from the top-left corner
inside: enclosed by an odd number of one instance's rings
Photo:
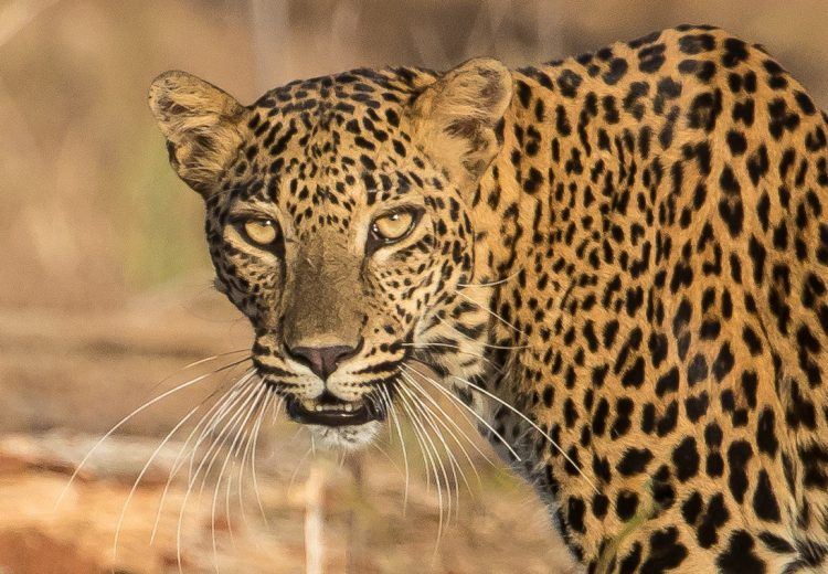
[[[320,443],[440,392],[585,572],[828,570],[828,116],[765,47],[688,24],[252,105],[170,71],[149,106]]]

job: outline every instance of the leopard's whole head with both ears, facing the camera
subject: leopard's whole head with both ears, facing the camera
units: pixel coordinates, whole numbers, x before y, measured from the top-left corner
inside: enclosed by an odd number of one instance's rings
[[[476,354],[463,349],[481,343],[485,309],[458,291],[511,88],[485,59],[294,82],[250,106],[183,72],[152,83],[257,374],[322,442],[368,442],[417,352]]]

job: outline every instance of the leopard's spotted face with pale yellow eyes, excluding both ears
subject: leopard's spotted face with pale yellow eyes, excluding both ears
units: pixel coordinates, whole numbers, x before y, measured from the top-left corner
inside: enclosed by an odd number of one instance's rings
[[[311,123],[258,107],[244,145],[257,156],[208,212],[219,285],[255,328],[258,372],[296,419],[351,440],[384,418],[425,316],[471,266],[457,187],[411,144],[402,106],[370,109]]]

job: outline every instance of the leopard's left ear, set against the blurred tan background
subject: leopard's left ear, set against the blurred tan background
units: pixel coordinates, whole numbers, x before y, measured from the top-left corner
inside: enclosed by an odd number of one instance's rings
[[[206,196],[238,151],[247,108],[187,72],[164,72],[149,88],[149,107],[167,138],[170,163]]]

